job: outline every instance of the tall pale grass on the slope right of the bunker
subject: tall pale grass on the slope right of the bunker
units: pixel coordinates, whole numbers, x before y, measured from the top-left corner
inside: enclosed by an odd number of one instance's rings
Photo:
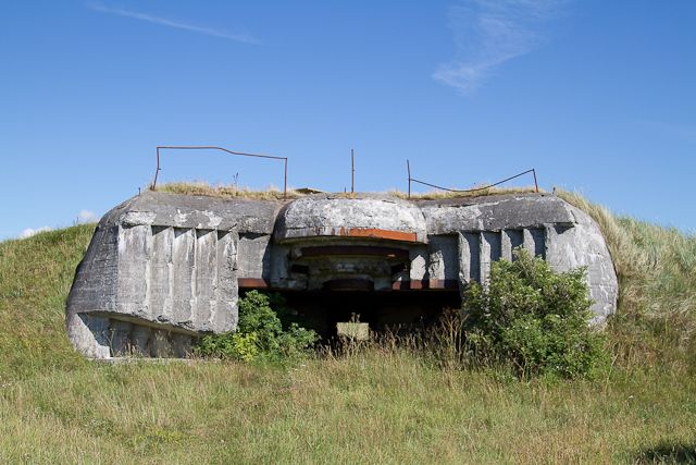
[[[607,238],[619,278],[619,309],[610,323],[626,364],[696,362],[696,236],[617,217],[584,197],[560,191],[586,211]]]

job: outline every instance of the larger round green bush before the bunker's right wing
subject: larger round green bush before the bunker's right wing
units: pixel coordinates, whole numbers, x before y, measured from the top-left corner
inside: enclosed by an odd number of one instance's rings
[[[555,272],[514,250],[492,265],[490,280],[464,293],[464,338],[474,363],[511,364],[520,377],[594,376],[608,359],[593,317],[585,269]]]

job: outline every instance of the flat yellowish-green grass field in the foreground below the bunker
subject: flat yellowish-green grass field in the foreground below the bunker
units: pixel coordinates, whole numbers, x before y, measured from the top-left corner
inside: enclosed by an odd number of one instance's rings
[[[545,386],[370,351],[293,368],[91,364],[2,388],[0,461],[632,462],[691,444],[670,371]]]

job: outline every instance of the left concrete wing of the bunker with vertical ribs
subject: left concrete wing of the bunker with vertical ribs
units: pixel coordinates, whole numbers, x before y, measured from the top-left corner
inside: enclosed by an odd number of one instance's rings
[[[71,340],[90,357],[182,356],[191,335],[234,329],[239,235],[270,237],[279,208],[151,192],[114,208],[77,269]]]

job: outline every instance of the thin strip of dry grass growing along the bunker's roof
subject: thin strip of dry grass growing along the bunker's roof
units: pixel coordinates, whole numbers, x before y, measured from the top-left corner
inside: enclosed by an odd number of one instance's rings
[[[485,186],[483,186],[485,187]],[[235,185],[210,185],[204,182],[177,182],[160,184],[156,188],[157,192],[165,192],[170,194],[186,194],[186,195],[202,195],[209,197],[222,197],[222,198],[249,198],[258,200],[282,200],[284,194],[282,189],[276,187],[269,187],[266,189],[252,189],[249,187],[238,187]],[[535,192],[534,187],[487,187],[478,188],[473,192],[447,192],[447,191],[430,191],[425,193],[411,193],[412,199],[427,200],[439,198],[461,198],[461,197],[481,197],[487,195],[499,194],[529,194]],[[543,191],[539,191],[543,192]],[[345,195],[350,197],[350,193],[332,193],[338,195]],[[393,195],[398,198],[408,198],[408,194],[401,191],[388,191],[386,194]],[[303,193],[301,188],[288,188],[288,199],[295,199],[303,197],[308,194]]]

